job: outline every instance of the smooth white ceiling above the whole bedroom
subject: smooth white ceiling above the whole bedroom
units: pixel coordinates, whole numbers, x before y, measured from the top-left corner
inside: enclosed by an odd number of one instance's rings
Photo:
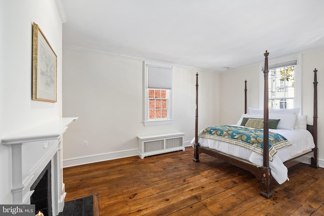
[[[323,0],[63,0],[63,46],[224,71],[324,47]]]

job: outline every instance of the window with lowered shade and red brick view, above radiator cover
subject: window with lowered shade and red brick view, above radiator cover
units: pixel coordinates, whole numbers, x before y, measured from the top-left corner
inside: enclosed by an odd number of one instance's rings
[[[143,63],[144,125],[172,123],[172,67]]]

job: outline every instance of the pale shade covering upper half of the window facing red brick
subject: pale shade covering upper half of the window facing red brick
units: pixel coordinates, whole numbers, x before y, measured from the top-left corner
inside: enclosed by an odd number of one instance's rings
[[[172,67],[147,65],[147,88],[172,89]]]

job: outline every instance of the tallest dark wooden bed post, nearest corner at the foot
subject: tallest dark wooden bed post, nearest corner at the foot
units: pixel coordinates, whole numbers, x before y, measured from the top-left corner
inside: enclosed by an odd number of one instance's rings
[[[268,107],[268,55],[264,56],[264,103],[263,103],[263,166],[261,167],[261,192],[260,195],[269,199],[271,194],[271,169],[269,167],[269,107]]]

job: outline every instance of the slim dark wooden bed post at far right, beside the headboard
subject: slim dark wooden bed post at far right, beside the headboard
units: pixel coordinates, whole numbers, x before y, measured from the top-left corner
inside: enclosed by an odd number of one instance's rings
[[[314,105],[313,105],[313,138],[315,147],[313,148],[314,156],[311,158],[311,166],[318,167],[318,148],[317,148],[317,70],[314,70]]]

